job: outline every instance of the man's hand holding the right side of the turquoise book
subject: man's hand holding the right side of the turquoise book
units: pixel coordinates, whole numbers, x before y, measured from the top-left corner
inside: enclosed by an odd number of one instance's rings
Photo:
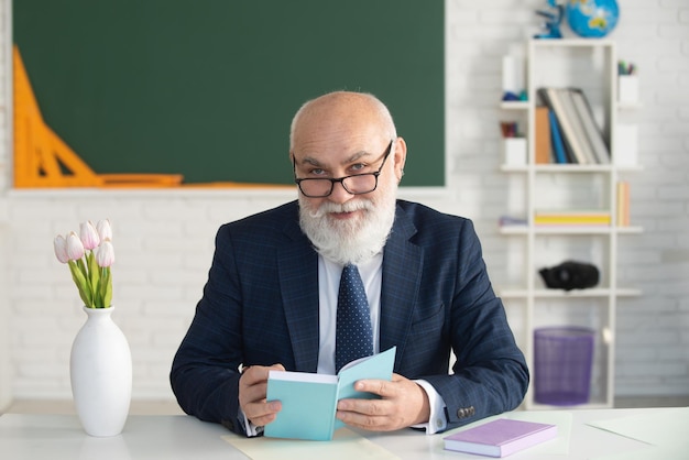
[[[428,395],[415,382],[393,374],[385,380],[360,380],[359,392],[374,393],[381,399],[341,399],[337,418],[352,427],[372,431],[393,431],[428,421]]]

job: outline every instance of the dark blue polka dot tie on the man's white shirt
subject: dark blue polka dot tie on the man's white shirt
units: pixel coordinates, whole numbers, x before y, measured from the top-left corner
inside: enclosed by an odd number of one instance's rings
[[[335,336],[335,369],[348,362],[373,354],[371,311],[357,265],[342,269],[337,302]]]

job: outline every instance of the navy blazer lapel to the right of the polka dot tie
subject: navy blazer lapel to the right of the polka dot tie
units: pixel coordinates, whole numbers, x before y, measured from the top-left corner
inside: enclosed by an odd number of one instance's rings
[[[412,314],[418,297],[423,249],[409,242],[416,228],[397,207],[395,223],[383,254],[383,282],[381,288],[381,351],[397,346],[396,365],[404,354]]]

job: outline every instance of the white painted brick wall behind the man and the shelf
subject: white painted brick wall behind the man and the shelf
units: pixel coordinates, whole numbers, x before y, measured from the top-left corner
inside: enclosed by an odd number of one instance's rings
[[[3,4],[2,63],[9,50]],[[446,194],[416,194],[442,211],[474,219],[500,286],[518,255],[496,231],[515,180],[497,171],[501,58],[537,30],[542,0],[447,0]],[[644,295],[619,304],[616,393],[689,394],[689,3],[622,0],[611,35],[621,58],[639,65],[644,171],[630,177],[641,236],[621,241],[622,285]],[[565,28],[565,32],[568,33]],[[7,78],[3,64],[0,77]],[[7,80],[4,81],[7,85]],[[10,109],[0,95],[0,140]],[[404,133],[401,133],[404,135]],[[287,140],[285,140],[286,142]],[[200,296],[217,227],[292,199],[293,193],[15,191],[11,153],[0,144],[0,406],[12,374],[15,397],[69,397],[69,347],[85,320],[65,266],[53,255],[57,233],[78,222],[113,222],[117,264],[113,317],[134,362],[134,398],[169,398],[169,363]],[[414,152],[409,152],[414,155]],[[512,184],[512,185],[511,185]],[[3,266],[6,270],[3,270]],[[6,366],[3,366],[6,365]],[[8,371],[9,370],[9,371]],[[6,372],[8,371],[8,372]]]

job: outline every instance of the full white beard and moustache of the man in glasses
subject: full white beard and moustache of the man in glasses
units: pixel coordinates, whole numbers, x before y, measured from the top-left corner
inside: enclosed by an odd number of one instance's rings
[[[363,209],[357,221],[336,221],[328,212],[347,212]],[[342,265],[360,264],[381,253],[395,220],[395,199],[352,199],[343,205],[324,201],[311,209],[299,197],[299,224],[316,251],[324,258]]]

